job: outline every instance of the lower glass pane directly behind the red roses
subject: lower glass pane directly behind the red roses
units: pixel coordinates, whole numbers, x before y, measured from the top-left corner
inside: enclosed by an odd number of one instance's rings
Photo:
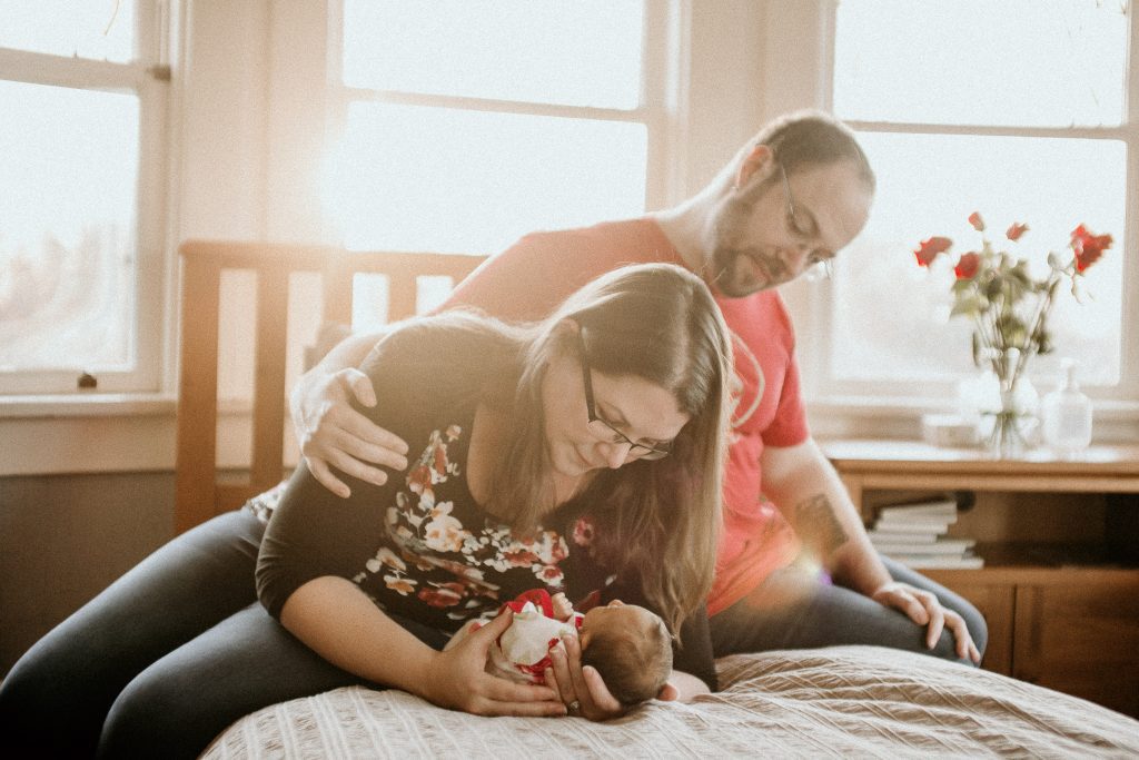
[[[1083,222],[1111,234],[1114,246],[1087,271],[1088,297],[1065,286],[1049,326],[1055,350],[1030,365],[1056,376],[1062,357],[1080,365],[1081,381],[1118,382],[1124,232],[1125,147],[1114,140],[862,133],[878,174],[870,221],[837,261],[831,367],[838,381],[936,381],[973,371],[969,334],[949,319],[948,264],[976,250],[981,235],[967,223],[980,211],[998,250],[1027,258],[1038,276],[1049,251],[1067,260],[1067,243]],[[931,164],[931,156],[936,162]],[[1009,243],[1005,230],[1030,231]],[[912,251],[933,235],[953,239],[953,254],[926,271]]]

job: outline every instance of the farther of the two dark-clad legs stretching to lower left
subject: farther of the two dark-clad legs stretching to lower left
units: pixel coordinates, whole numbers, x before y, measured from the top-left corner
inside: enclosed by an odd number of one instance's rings
[[[256,599],[263,530],[246,510],[215,517],[166,544],[40,639],[0,685],[0,750],[90,757],[126,684]]]

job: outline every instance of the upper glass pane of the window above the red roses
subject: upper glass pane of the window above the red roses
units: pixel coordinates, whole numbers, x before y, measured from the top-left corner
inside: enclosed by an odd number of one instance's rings
[[[1117,125],[1122,0],[842,0],[834,108],[937,124]]]

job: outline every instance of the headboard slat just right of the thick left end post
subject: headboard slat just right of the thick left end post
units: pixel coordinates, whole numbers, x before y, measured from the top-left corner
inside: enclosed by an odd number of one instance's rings
[[[249,481],[270,488],[280,481],[285,450],[285,349],[288,271],[257,275],[256,365],[253,390],[253,456]]]

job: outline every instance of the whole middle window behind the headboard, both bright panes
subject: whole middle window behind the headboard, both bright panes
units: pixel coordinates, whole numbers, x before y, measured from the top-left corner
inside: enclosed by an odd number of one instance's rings
[[[344,244],[493,253],[642,213],[664,121],[654,5],[344,0],[323,180]]]

